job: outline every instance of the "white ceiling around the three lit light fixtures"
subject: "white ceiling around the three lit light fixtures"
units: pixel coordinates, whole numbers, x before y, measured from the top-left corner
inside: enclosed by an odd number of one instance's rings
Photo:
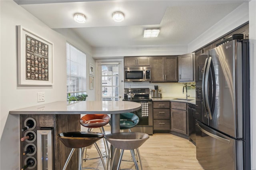
[[[72,29],[92,47],[187,45],[245,0],[15,0],[50,28]],[[112,20],[124,13],[123,22]],[[73,20],[75,13],[86,23]],[[158,38],[144,29],[160,28]]]

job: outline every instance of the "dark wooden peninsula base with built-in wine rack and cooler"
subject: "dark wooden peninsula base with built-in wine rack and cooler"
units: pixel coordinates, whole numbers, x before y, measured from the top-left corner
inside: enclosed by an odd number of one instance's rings
[[[30,160],[35,161],[34,166],[28,167],[30,170],[46,169],[45,166],[48,169],[61,170],[71,148],[64,146],[57,135],[61,132],[80,131],[80,114],[20,115],[20,129],[20,138],[30,137],[20,141],[20,168]],[[47,136],[48,132],[51,134]],[[67,169],[77,169],[77,164],[78,151],[75,150]]]

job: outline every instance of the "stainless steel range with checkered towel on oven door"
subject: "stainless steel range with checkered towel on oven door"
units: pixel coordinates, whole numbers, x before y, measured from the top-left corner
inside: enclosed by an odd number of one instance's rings
[[[134,101],[142,105],[140,110],[133,112],[140,118],[138,125],[132,128],[133,132],[153,134],[153,107],[149,92],[148,88],[124,89],[123,101]]]

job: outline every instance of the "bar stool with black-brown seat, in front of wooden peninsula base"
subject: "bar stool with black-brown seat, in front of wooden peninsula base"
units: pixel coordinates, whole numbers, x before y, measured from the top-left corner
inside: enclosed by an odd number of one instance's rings
[[[70,161],[70,158],[72,157],[75,148],[78,148],[78,170],[82,170],[82,169],[98,170],[96,168],[82,168],[82,155],[83,155],[82,148],[86,146],[90,146],[92,144],[94,144],[94,146],[96,147],[98,154],[100,155],[104,170],[106,170],[106,165],[104,163],[102,154],[100,152],[98,145],[96,144],[96,142],[103,137],[104,137],[104,134],[95,133],[95,132],[62,132],[58,134],[58,138],[62,141],[62,143],[66,147],[72,148],[62,170],[66,170],[68,162]]]

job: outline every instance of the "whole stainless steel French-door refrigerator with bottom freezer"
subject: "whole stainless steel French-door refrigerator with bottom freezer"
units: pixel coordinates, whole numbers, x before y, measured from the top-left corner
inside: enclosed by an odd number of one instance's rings
[[[250,170],[249,41],[199,55],[196,158],[204,170]]]

